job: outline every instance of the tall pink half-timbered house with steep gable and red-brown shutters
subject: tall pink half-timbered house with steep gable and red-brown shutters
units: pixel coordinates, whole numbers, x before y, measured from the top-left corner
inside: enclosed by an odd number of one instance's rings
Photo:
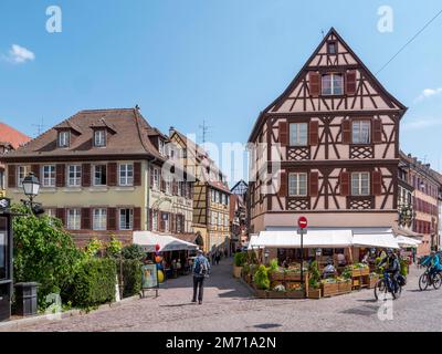
[[[301,215],[315,228],[392,228],[406,111],[332,29],[250,135],[254,159],[266,157],[250,186],[251,232]]]

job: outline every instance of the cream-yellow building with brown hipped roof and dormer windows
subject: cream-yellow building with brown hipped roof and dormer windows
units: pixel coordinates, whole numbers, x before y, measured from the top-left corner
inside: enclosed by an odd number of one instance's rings
[[[192,232],[192,183],[165,180],[168,137],[138,108],[81,111],[3,157],[8,197],[24,198],[21,183],[41,181],[36,201],[59,217],[83,246],[133,232]]]

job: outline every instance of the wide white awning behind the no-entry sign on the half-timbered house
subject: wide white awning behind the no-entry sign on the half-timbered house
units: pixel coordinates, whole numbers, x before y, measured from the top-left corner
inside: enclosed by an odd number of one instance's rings
[[[305,248],[341,248],[351,246],[351,230],[308,230],[303,237]],[[261,231],[252,236],[252,248],[299,248],[301,235],[296,231]]]

